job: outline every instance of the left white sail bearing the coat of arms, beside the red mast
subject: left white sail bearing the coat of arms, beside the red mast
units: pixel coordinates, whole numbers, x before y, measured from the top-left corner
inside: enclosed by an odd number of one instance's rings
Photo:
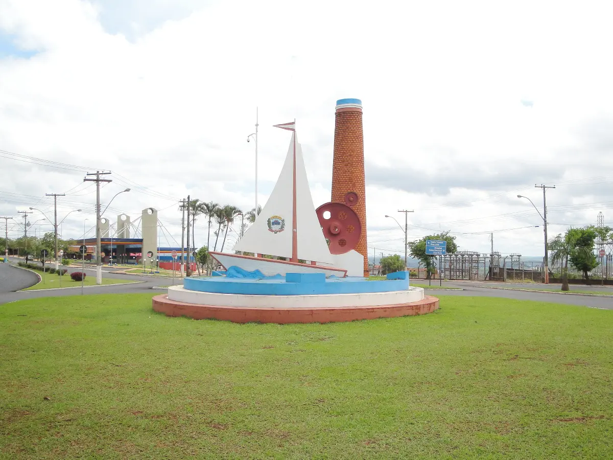
[[[294,136],[295,132],[292,134],[285,163],[283,163],[281,174],[276,181],[272,194],[270,194],[256,221],[234,246],[235,251],[291,258],[292,210],[294,209],[292,192],[294,187]],[[284,224],[283,229],[274,228],[276,232],[271,231],[268,228],[269,218],[280,218]]]

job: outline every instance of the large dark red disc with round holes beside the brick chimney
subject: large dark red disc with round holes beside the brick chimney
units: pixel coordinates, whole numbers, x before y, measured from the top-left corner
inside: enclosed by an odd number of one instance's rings
[[[325,203],[316,212],[324,236],[330,240],[330,254],[345,254],[356,247],[362,226],[354,210],[343,203]]]

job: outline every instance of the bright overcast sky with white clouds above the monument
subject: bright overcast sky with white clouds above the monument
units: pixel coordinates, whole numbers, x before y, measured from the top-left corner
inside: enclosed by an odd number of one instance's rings
[[[98,168],[113,172],[103,207],[132,188],[106,217],[155,207],[180,243],[187,194],[253,207],[256,107],[260,202],[290,138],[272,125],[295,118],[317,206],[330,199],[335,101],[359,98],[370,253],[402,253],[384,215],[404,224],[409,209],[409,239],[451,230],[485,253],[494,231],[495,250],[542,255],[542,220],[517,198],[542,212],[535,183],[556,186],[550,235],[598,212],[613,223],[612,7],[569,5],[0,0],[0,215],[53,218],[45,193],[66,193],[60,219],[83,212],[61,230],[80,237],[96,200],[83,176]],[[205,229],[201,218],[197,245]]]

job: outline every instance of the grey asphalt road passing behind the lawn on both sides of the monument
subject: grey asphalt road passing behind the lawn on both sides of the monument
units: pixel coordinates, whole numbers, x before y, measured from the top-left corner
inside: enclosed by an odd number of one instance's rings
[[[18,259],[14,259],[13,262],[17,263]],[[67,266],[69,272],[82,270],[81,267]],[[156,293],[163,293],[164,291],[158,291],[152,289],[153,286],[164,286],[172,283],[172,278],[151,278],[142,275],[123,275],[107,272],[103,267],[105,278],[121,278],[139,281],[140,283],[124,284],[116,286],[86,286],[83,289],[84,294],[116,294],[116,293],[150,293],[152,295]],[[86,266],[85,272],[90,276],[95,276],[95,269],[88,268]],[[39,291],[24,291],[13,292],[17,289],[23,289],[31,286],[37,281],[32,280],[32,277],[36,278],[36,275],[29,274],[26,270],[16,269],[10,267],[9,264],[0,264],[0,304],[7,302],[13,302],[21,299],[32,299],[36,297],[57,297],[57,296],[80,296],[80,288],[70,289],[40,289]],[[420,283],[424,283],[424,280],[419,280]],[[180,278],[175,279],[175,283],[180,284]],[[433,288],[436,286],[433,283]],[[452,291],[449,289],[440,291],[427,291],[432,296],[464,296],[464,297],[501,297],[504,299],[517,299],[526,301],[538,301],[538,302],[553,302],[557,304],[568,305],[580,305],[585,307],[599,308],[613,310],[613,297],[608,296],[579,296],[569,294],[554,294],[554,293],[535,293],[529,291],[512,291],[506,289],[491,289],[487,286],[512,288],[514,285],[511,283],[473,283],[473,282],[445,282],[444,285],[449,287],[462,288],[462,291]],[[520,285],[524,286],[525,285]],[[539,285],[534,285],[538,288]],[[596,286],[576,286],[577,289],[590,289],[596,290]],[[571,286],[573,289],[573,286]],[[610,288],[603,288],[610,289]],[[611,289],[613,294],[613,289]],[[607,290],[607,293],[609,291]]]

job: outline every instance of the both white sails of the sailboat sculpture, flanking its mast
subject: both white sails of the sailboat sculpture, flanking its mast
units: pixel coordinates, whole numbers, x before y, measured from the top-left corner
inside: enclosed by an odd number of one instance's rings
[[[302,148],[295,131],[281,174],[264,209],[245,235],[234,246],[235,251],[292,257],[292,215],[294,210],[294,142],[296,153],[296,218],[299,259],[332,264],[333,258],[315,212],[308,186]]]

